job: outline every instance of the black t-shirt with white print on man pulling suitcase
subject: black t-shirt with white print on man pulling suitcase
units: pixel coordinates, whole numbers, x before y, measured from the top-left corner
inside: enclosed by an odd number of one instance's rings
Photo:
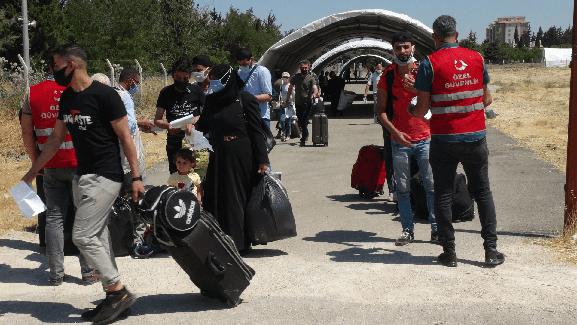
[[[60,97],[58,119],[66,123],[76,159],[77,175],[96,174],[114,182],[123,180],[118,136],[110,121],[126,116],[118,93],[94,81],[76,93],[66,88]]]

